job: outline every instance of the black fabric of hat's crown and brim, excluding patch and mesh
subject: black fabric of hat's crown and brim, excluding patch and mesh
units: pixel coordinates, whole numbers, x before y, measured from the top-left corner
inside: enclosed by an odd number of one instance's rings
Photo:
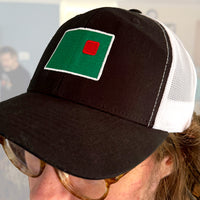
[[[63,34],[79,27],[115,35],[99,81],[44,70]],[[164,34],[157,22],[118,8],[69,20],[47,46],[27,93],[0,104],[0,134],[76,176],[102,179],[134,168],[168,135],[151,128],[172,59]]]

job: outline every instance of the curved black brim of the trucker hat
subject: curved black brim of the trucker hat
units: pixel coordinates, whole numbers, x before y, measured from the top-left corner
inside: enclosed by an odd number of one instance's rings
[[[0,134],[50,165],[89,179],[131,170],[168,136],[40,93],[25,93],[0,103]]]

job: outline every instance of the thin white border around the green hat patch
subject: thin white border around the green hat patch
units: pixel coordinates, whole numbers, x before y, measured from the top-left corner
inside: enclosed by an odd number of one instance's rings
[[[93,77],[90,77],[90,76],[86,76],[86,75],[74,73],[74,72],[67,71],[67,70],[53,69],[53,68],[48,68],[48,67],[47,67],[48,63],[50,62],[52,56],[54,55],[55,51],[57,50],[57,48],[58,48],[59,44],[61,43],[61,41],[62,41],[63,37],[65,36],[65,34],[66,34],[67,32],[76,31],[76,30],[89,30],[89,31],[92,31],[92,32],[97,32],[97,33],[100,33],[100,34],[104,34],[104,35],[111,36],[111,41],[110,41],[110,44],[109,44],[109,46],[108,46],[106,55],[105,55],[104,60],[103,60],[103,62],[102,62],[101,69],[100,69],[100,71],[99,71],[99,74],[98,74],[98,77],[97,77],[97,78],[93,78]],[[65,31],[65,33],[63,34],[62,38],[60,39],[59,43],[57,44],[57,46],[56,46],[54,52],[52,53],[51,57],[49,58],[47,64],[46,64],[45,67],[44,67],[44,69],[50,70],[50,71],[64,72],[64,73],[67,73],[67,74],[72,74],[72,75],[75,75],[75,76],[80,76],[80,77],[84,77],[84,78],[88,78],[88,79],[92,79],[92,80],[98,81],[98,80],[101,78],[101,75],[102,75],[102,73],[103,73],[103,69],[104,69],[104,66],[105,66],[105,64],[106,64],[106,60],[107,60],[108,55],[109,55],[109,53],[110,53],[111,47],[112,47],[112,45],[113,45],[114,39],[115,39],[115,35],[114,35],[114,34],[106,33],[106,32],[103,32],[103,31],[96,30],[96,29],[84,28],[84,27],[69,29],[69,30]]]

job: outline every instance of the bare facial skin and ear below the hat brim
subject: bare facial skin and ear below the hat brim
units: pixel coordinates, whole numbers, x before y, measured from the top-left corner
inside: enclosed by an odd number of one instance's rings
[[[106,200],[153,200],[159,181],[172,172],[172,167],[170,157],[157,164],[151,155],[111,185]],[[29,186],[30,200],[78,200],[64,188],[50,165],[41,176],[29,177]]]

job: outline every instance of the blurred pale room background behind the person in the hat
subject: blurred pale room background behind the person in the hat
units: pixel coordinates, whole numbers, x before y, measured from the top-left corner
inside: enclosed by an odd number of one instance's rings
[[[136,8],[164,22],[193,58],[199,82],[200,0],[0,0],[0,101],[26,91],[44,49],[62,23],[104,6]],[[195,110],[200,113],[200,88]],[[0,200],[14,199],[29,199],[28,179],[0,148]]]

